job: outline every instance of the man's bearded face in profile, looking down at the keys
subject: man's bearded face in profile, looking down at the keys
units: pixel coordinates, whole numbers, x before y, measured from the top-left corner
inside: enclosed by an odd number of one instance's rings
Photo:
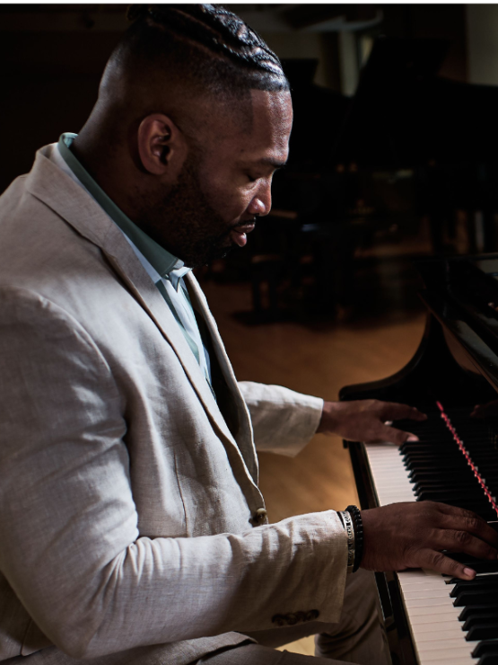
[[[214,113],[200,154],[190,153],[178,182],[147,210],[144,230],[188,267],[245,245],[257,218],[270,211],[272,177],[288,155],[291,96],[256,90],[251,96],[250,127]]]

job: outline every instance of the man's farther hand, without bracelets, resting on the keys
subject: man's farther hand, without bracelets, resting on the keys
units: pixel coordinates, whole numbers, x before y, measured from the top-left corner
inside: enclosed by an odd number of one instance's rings
[[[325,402],[317,432],[339,434],[349,441],[390,441],[400,446],[405,441],[418,441],[418,437],[385,423],[405,419],[425,421],[427,416],[413,406],[379,400]]]

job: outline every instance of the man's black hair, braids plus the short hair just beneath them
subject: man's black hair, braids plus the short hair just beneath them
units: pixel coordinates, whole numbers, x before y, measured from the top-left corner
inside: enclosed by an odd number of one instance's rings
[[[212,93],[289,90],[280,60],[236,14],[214,4],[132,4],[118,49],[174,68]]]

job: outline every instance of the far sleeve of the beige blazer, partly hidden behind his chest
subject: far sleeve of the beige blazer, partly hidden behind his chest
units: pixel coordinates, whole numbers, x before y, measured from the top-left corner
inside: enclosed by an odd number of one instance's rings
[[[317,431],[323,400],[283,386],[240,381],[258,450],[294,457]]]

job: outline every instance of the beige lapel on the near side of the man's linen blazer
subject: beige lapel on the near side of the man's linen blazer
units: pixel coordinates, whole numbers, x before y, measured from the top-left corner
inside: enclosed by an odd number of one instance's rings
[[[218,436],[221,436],[225,442],[228,441],[233,448],[237,448],[237,451],[239,451],[239,447],[214,400],[211,388],[208,386],[194,354],[180,331],[179,325],[170,312],[170,307],[164,302],[158,288],[155,287],[147,275],[118,226],[82,187],[49,160],[51,149],[52,146],[46,146],[38,151],[35,164],[27,178],[26,187],[28,191],[45,203],[48,208],[53,209],[57,215],[63,217],[80,235],[100,247],[112,269],[118,273],[119,278],[127,285],[128,290],[152,318],[154,324],[157,325],[177,354],[179,362],[203,404]],[[197,291],[200,292],[198,286]],[[221,340],[219,343],[222,343]],[[215,342],[214,346],[218,346],[218,341]],[[218,349],[216,353],[218,355]],[[226,373],[225,368],[223,368],[223,372]],[[238,389],[237,393],[239,393]],[[255,462],[250,457],[244,455],[243,461],[254,480]]]

